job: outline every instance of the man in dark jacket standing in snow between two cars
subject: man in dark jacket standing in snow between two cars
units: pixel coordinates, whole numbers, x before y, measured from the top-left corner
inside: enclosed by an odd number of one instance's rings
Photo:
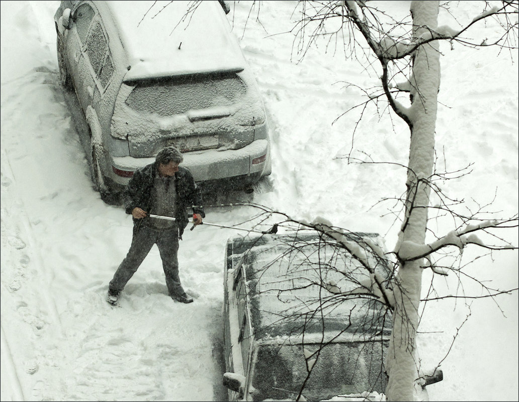
[[[166,274],[169,295],[182,303],[191,303],[180,283],[179,238],[188,224],[187,207],[193,208],[193,222],[202,223],[202,196],[190,171],[179,164],[184,157],[175,147],[161,150],[155,162],[135,170],[123,193],[126,213],[133,216],[133,238],[126,258],[122,260],[108,285],[108,303],[116,304],[135,271],[154,244],[157,245]],[[174,219],[152,218],[149,215]]]

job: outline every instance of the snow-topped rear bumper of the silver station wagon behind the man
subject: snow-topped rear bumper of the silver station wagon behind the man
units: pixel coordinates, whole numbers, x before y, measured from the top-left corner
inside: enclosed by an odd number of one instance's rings
[[[185,166],[193,174],[196,182],[228,179],[236,176],[250,176],[259,179],[266,174],[270,160],[268,140],[258,139],[249,145],[236,149],[217,151],[196,151],[183,153]],[[131,171],[155,162],[155,157],[135,158],[132,156],[114,157],[112,170],[107,176],[118,184],[126,185]]]

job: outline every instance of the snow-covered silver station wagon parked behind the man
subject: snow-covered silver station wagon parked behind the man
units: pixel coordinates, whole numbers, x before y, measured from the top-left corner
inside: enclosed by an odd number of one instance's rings
[[[54,15],[61,82],[83,111],[105,202],[169,145],[197,182],[250,188],[270,174],[263,99],[228,8],[194,4],[62,1]]]

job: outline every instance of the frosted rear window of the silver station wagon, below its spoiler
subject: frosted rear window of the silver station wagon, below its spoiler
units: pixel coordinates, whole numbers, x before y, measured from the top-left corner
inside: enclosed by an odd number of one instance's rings
[[[247,91],[236,74],[191,75],[170,79],[128,83],[135,85],[126,104],[138,111],[160,116],[183,114],[188,110],[230,106]]]

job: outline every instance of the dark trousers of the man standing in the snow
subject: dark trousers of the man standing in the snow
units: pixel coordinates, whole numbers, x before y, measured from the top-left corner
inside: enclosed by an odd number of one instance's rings
[[[155,229],[146,225],[133,226],[130,250],[115,271],[114,277],[110,281],[110,289],[119,292],[124,289],[126,283],[135,274],[154,244],[159,248],[169,294],[182,295],[184,293],[180,284],[179,259],[177,257],[179,230],[176,227],[173,229]]]

